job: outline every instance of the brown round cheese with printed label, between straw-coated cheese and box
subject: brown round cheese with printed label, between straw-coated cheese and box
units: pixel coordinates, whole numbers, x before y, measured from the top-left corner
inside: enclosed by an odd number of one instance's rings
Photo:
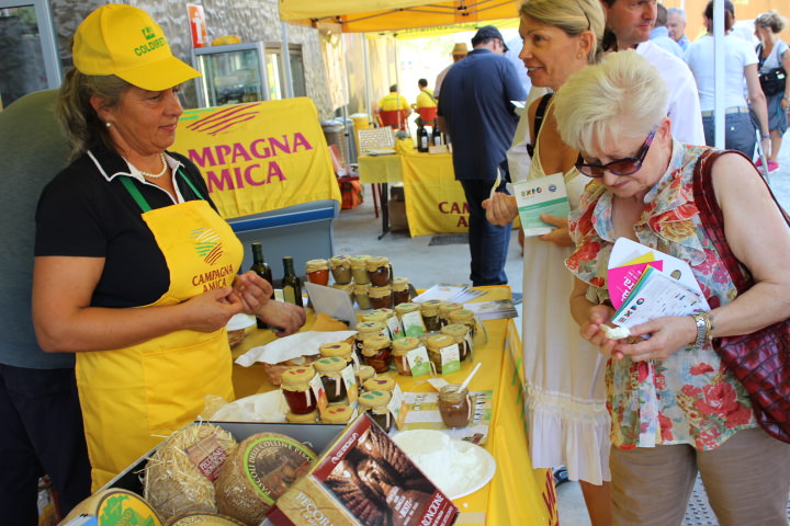
[[[315,460],[309,447],[290,436],[258,433],[248,437],[225,461],[214,483],[217,511],[258,526]]]

